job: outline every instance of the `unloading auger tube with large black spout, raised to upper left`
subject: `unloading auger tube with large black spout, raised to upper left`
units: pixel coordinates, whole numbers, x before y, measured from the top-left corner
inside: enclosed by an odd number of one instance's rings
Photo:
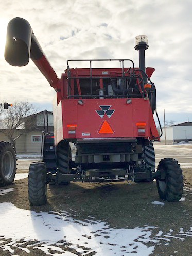
[[[60,79],[41,49],[29,22],[16,17],[9,22],[7,27],[5,60],[12,66],[21,67],[28,64],[29,58],[57,91]]]

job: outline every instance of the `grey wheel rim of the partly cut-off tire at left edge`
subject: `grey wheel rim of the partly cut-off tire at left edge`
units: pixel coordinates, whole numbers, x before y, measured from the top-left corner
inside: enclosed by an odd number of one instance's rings
[[[14,158],[10,151],[7,151],[3,156],[3,173],[6,179],[11,178],[14,170]]]

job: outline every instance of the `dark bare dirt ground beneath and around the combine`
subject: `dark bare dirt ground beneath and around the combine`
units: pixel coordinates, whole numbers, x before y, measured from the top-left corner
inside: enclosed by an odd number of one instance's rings
[[[171,238],[169,246],[166,246],[166,241],[162,240],[161,243],[155,244],[152,255],[189,256],[192,255],[192,237],[181,236],[183,234],[180,234],[179,231],[182,228],[184,234],[187,234],[192,226],[192,168],[184,169],[183,175],[185,178],[183,198],[185,200],[182,202],[165,202],[163,207],[152,204],[152,201],[161,201],[155,181],[152,183],[133,183],[132,185],[126,182],[71,182],[65,186],[49,185],[48,203],[44,206],[30,207],[26,178],[17,180],[13,185],[6,187],[16,189],[14,189],[14,193],[2,195],[0,203],[11,202],[21,209],[37,212],[64,210],[71,213],[72,216],[75,213],[74,218],[78,220],[85,220],[88,216],[93,216],[96,220],[109,223],[113,228],[153,226],[156,228],[153,228],[152,235],[161,230],[164,237],[169,236],[170,230],[172,230],[171,235],[173,237],[184,237],[185,240]],[[5,241],[5,243],[7,242]],[[14,255],[45,255],[35,248],[30,253],[14,249]],[[0,248],[0,255],[10,256],[12,254]]]

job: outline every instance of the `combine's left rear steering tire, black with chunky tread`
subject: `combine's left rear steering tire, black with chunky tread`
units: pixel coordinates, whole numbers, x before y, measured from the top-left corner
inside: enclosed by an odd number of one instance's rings
[[[47,202],[47,172],[44,162],[33,162],[29,167],[28,198],[31,206],[44,205]]]

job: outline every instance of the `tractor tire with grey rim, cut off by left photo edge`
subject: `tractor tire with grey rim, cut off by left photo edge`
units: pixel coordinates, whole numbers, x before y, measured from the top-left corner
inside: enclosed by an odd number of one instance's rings
[[[14,181],[16,174],[16,153],[11,143],[0,142],[0,186]]]

